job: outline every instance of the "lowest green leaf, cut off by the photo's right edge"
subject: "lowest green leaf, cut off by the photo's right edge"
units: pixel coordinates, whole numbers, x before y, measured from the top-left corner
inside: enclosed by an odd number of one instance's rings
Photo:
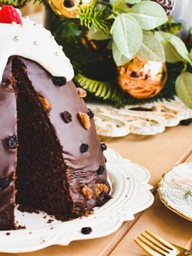
[[[180,100],[192,108],[192,74],[182,73],[176,81],[175,89]]]

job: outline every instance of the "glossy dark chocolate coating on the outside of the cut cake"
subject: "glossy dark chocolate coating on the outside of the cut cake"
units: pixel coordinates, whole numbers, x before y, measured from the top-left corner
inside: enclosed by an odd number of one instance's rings
[[[9,187],[0,188],[0,230],[14,228],[14,173],[17,163],[17,149],[9,149],[6,138],[17,135],[17,107],[14,91],[11,87],[12,58],[7,62],[0,86],[0,179],[9,178]],[[19,57],[20,58],[20,57]],[[95,131],[94,120],[91,127],[86,130],[78,118],[78,112],[87,113],[83,99],[79,98],[73,82],[57,86],[52,82],[51,75],[36,62],[20,58],[27,68],[27,75],[35,91],[41,94],[51,107],[50,122],[55,134],[63,148],[63,159],[69,170],[69,191],[71,201],[76,211],[92,210],[97,204],[94,196],[95,183],[107,183],[106,167],[102,175],[97,175],[100,165],[105,166],[105,158],[100,148],[100,142]],[[63,122],[61,113],[68,111],[72,116],[70,123]],[[81,153],[82,143],[89,145],[86,153]],[[17,175],[17,172],[16,172]],[[86,200],[81,188],[88,185],[93,191],[93,197]]]

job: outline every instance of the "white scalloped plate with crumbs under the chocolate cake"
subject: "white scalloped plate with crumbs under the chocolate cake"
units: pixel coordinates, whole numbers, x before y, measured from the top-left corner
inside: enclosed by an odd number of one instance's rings
[[[71,241],[107,236],[119,227],[123,221],[133,220],[135,213],[147,209],[153,204],[154,197],[148,185],[149,171],[144,167],[123,159],[115,151],[105,153],[112,198],[103,206],[97,207],[89,217],[61,222],[47,223],[45,213],[21,213],[16,210],[20,225],[26,229],[0,231],[0,252],[32,252],[47,246],[68,245]],[[91,227],[92,233],[83,235],[82,227]]]

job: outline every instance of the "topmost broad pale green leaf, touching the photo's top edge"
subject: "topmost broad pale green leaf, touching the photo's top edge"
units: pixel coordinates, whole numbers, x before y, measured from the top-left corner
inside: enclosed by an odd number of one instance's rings
[[[129,12],[142,29],[150,30],[165,23],[168,18],[163,7],[152,1],[141,1],[133,5]]]

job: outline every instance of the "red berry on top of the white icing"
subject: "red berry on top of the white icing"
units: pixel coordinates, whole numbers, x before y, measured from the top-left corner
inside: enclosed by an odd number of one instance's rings
[[[21,24],[21,17],[17,10],[12,5],[4,5],[0,10],[0,23],[12,23],[15,21]]]

